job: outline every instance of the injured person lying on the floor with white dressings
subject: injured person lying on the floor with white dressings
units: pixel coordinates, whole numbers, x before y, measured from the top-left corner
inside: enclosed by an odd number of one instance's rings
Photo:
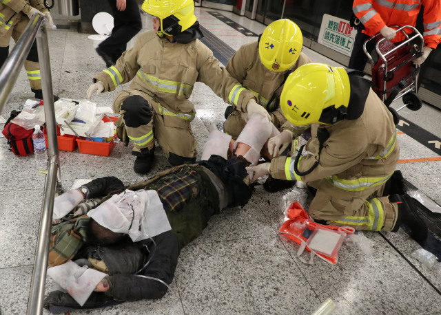
[[[52,226],[48,255],[56,288],[45,307],[66,312],[164,296],[183,246],[212,215],[247,204],[252,174],[245,167],[258,163],[271,135],[268,119],[254,114],[234,144],[212,128],[196,164],[128,187],[102,177],[56,197],[60,223]]]

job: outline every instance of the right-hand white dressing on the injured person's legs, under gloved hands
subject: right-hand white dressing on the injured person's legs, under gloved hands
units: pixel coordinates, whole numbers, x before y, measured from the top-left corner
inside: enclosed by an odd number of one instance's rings
[[[249,118],[236,142],[234,142],[234,149],[236,149],[239,142],[251,146],[244,158],[252,165],[256,165],[260,159],[260,150],[262,150],[263,145],[267,142],[269,136],[273,132],[273,126],[274,124],[269,122],[266,117],[254,113]]]

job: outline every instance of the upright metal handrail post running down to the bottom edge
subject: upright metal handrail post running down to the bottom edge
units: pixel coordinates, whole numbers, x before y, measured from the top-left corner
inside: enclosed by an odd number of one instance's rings
[[[59,149],[54,109],[54,93],[52,90],[52,76],[50,72],[48,34],[44,24],[41,25],[36,39],[41,72],[41,87],[43,89],[45,123],[48,135],[49,161],[48,177],[45,180],[43,210],[40,219],[41,224],[39,237],[37,239],[37,257],[35,257],[34,271],[32,272],[27,314],[42,314],[43,312],[54,195],[56,189],[57,191],[61,191]]]

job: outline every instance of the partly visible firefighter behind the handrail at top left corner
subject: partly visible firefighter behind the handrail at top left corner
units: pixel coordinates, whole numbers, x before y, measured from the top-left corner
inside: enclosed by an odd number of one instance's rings
[[[41,14],[45,17],[45,23],[50,28],[55,28],[54,21],[50,16],[49,9],[40,0],[11,0],[0,1],[0,67],[9,56],[10,39],[17,43],[21,34],[28,25],[34,14]],[[41,89],[41,75],[37,43],[34,41],[30,52],[25,60],[25,70],[28,75],[30,89],[35,98],[43,99]],[[58,100],[54,96],[54,100]]]

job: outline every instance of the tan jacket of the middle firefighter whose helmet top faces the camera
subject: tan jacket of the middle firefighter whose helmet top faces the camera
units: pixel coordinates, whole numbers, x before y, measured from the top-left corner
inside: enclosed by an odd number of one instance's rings
[[[300,65],[305,65],[305,63],[311,63],[311,59],[300,52],[297,62],[288,72],[294,71]],[[239,50],[229,59],[227,70],[243,87],[256,94],[258,103],[265,109],[273,111],[277,108],[286,72],[273,72],[260,62],[258,41],[240,46]],[[276,97],[268,105],[274,93],[276,93]]]

